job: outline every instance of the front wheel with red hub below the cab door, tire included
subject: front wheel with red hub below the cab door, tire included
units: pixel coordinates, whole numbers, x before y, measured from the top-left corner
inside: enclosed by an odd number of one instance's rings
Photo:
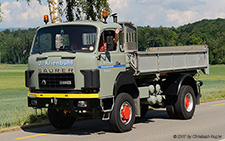
[[[120,93],[115,100],[110,116],[110,127],[116,132],[126,132],[132,129],[135,121],[135,105],[133,98],[127,93]]]

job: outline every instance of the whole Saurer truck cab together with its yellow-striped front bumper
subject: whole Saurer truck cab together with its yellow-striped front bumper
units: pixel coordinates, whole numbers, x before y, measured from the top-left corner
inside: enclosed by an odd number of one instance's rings
[[[93,114],[98,106],[102,111],[111,111],[114,83],[127,66],[122,42],[114,41],[117,28],[121,28],[117,23],[94,21],[39,28],[26,71],[28,105],[48,108],[49,114],[55,109],[67,111],[67,115]],[[68,126],[71,124],[57,128]]]

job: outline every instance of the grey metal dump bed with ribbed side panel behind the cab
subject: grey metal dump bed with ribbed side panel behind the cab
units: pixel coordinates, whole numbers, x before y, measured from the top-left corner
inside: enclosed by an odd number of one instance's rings
[[[152,47],[130,58],[136,75],[202,70],[209,74],[207,46]]]

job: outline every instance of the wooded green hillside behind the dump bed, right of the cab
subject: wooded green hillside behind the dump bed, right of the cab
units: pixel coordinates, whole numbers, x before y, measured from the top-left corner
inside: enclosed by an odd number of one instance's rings
[[[139,50],[148,47],[208,45],[210,64],[225,64],[225,20],[202,20],[178,28],[138,27]]]

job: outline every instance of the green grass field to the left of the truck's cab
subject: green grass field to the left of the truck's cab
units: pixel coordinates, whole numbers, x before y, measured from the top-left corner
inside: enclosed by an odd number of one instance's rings
[[[26,69],[27,65],[0,66],[0,130],[46,119],[46,114],[36,117],[35,111],[27,106]]]

